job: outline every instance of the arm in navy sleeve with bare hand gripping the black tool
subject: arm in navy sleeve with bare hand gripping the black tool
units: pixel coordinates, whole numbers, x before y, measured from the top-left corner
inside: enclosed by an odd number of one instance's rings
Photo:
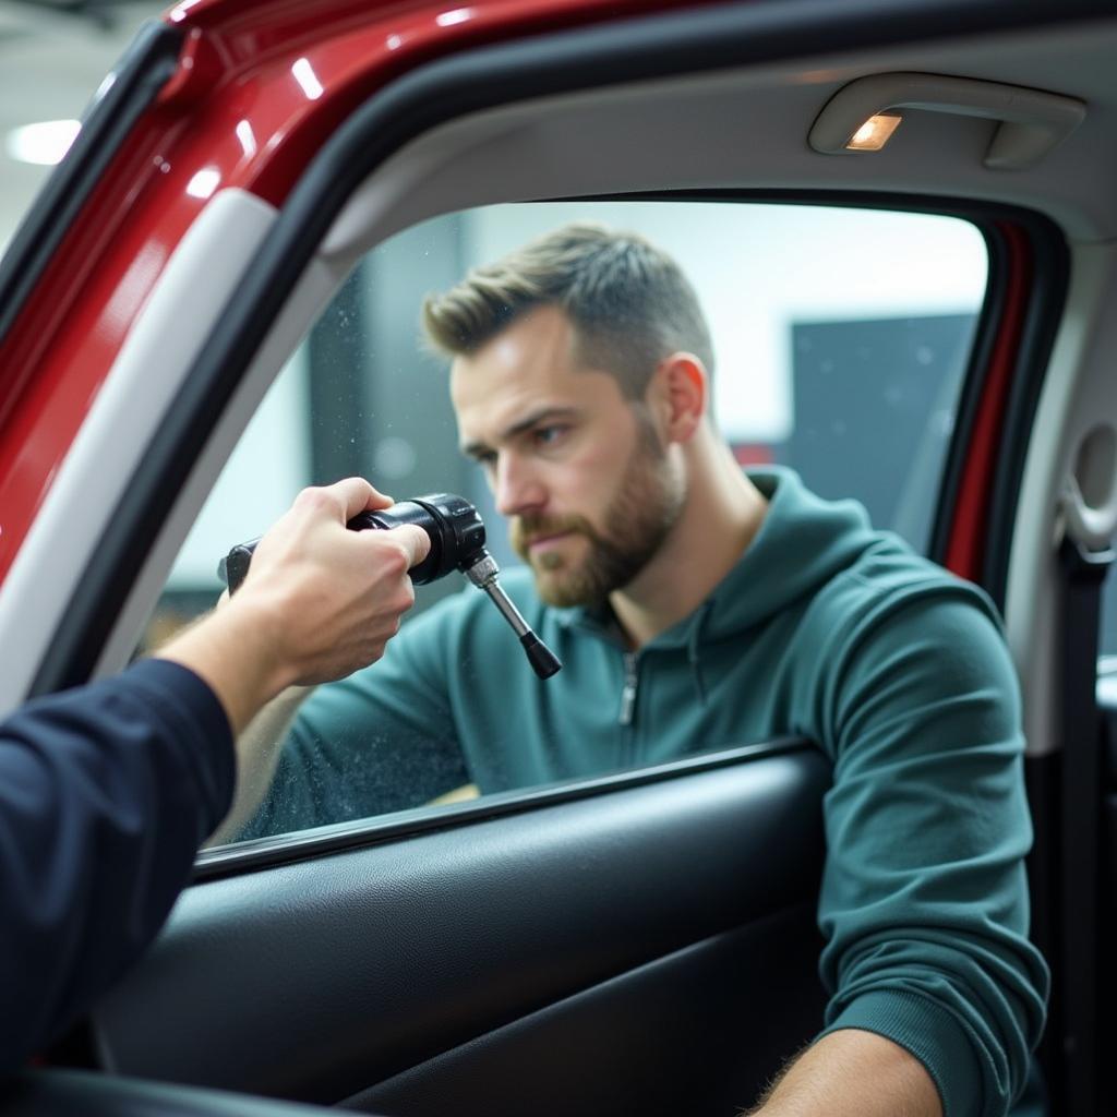
[[[386,499],[307,490],[228,609],[124,676],[0,725],[0,1071],[19,1067],[153,937],[232,795],[232,733],[293,684],[379,658],[413,594],[419,528],[354,533]]]

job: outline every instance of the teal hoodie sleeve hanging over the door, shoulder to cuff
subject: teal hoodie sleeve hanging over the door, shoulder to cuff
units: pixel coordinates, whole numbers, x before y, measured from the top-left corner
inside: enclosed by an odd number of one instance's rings
[[[1048,992],[1028,941],[1019,690],[990,614],[945,582],[862,611],[822,696],[825,1031],[910,1051],[946,1117],[1008,1113]]]

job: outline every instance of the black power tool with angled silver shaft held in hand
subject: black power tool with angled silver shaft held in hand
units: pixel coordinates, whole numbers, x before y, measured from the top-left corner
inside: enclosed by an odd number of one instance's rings
[[[383,512],[362,512],[346,526],[360,532],[402,524],[418,524],[430,536],[430,552],[410,570],[416,585],[437,582],[450,571],[460,570],[500,610],[519,637],[527,660],[541,679],[548,679],[562,667],[554,652],[531,630],[519,610],[500,589],[497,581],[500,569],[485,550],[485,524],[468,500],[450,493],[417,496],[393,504]],[[259,542],[238,543],[218,564],[218,576],[229,586],[230,593],[235,593],[245,581],[252,552]]]

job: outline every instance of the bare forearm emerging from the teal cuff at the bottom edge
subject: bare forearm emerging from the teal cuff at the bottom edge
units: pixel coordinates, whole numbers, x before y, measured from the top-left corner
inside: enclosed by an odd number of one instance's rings
[[[755,1117],[942,1117],[923,1063],[891,1040],[847,1029],[823,1035],[776,1082]]]

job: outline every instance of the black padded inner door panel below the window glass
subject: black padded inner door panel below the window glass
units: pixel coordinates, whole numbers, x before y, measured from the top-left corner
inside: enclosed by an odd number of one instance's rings
[[[746,1104],[821,1025],[829,765],[725,762],[199,884],[96,1014],[106,1060],[385,1113]]]

